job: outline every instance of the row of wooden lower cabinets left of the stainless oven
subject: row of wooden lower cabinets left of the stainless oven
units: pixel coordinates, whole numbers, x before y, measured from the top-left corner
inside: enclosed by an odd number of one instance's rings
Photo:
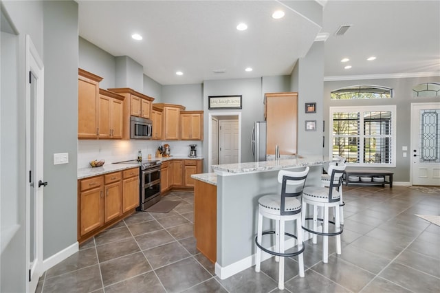
[[[139,168],[78,180],[78,242],[98,234],[139,206]]]

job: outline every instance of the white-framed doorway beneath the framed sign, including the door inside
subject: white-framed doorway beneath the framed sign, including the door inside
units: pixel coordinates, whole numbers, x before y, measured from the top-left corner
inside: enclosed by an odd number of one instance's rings
[[[208,117],[208,170],[241,162],[241,113],[212,112]]]

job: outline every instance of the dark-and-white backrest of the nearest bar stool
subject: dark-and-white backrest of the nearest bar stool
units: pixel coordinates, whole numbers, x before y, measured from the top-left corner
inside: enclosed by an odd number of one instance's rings
[[[301,208],[293,211],[285,210],[285,199],[286,197],[300,197],[303,195],[303,189],[305,186],[305,180],[307,174],[309,173],[309,167],[306,167],[304,171],[285,171],[281,170],[278,172],[278,182],[281,183],[281,205],[280,213],[281,215],[295,215],[300,213]],[[287,187],[289,190],[294,192],[287,192]],[[301,202],[301,198],[298,199]]]

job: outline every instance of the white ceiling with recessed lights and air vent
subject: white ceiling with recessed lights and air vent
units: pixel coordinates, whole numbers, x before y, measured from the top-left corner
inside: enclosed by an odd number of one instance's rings
[[[440,72],[440,1],[319,1],[322,28],[283,2],[78,1],[79,34],[113,56],[133,58],[162,85],[290,74],[323,32],[327,78]],[[277,9],[283,19],[272,19]],[[236,30],[240,22],[248,30]],[[344,36],[333,35],[346,24],[352,27]],[[131,39],[135,32],[144,39]],[[377,59],[366,61],[371,55]]]

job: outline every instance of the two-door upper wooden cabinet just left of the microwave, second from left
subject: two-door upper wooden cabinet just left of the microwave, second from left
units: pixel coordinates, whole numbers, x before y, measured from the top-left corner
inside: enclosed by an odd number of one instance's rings
[[[124,96],[99,89],[98,138],[122,138]]]

